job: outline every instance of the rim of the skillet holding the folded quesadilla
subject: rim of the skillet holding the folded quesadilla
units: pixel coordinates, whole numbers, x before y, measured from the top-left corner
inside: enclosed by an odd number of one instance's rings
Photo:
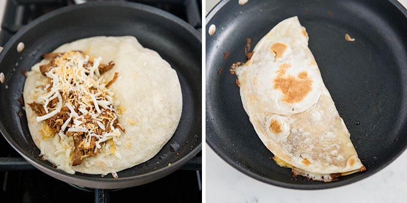
[[[214,8],[212,8],[212,10],[206,16],[206,27],[209,28],[208,25],[210,24],[211,19],[229,1],[230,0],[222,0]],[[407,9],[404,6],[402,6],[397,0],[387,0],[387,1],[389,3],[391,3],[393,6],[395,6],[397,8],[397,10],[400,11],[403,14],[403,16],[407,19]],[[206,59],[208,59],[208,58],[206,58]],[[210,68],[208,66],[206,66],[206,75],[207,76],[209,75],[208,74],[209,71],[210,71]],[[206,80],[205,81],[206,87],[209,87],[210,86],[209,84],[211,82],[208,80],[208,78],[206,78],[205,80]],[[206,98],[210,97],[208,94],[209,94],[209,89],[206,89]],[[206,127],[206,132],[208,134],[208,131],[210,131],[213,135],[216,135],[216,133],[214,133],[215,130],[213,130],[215,128],[214,127],[215,125],[212,122],[213,114],[210,111],[211,109],[212,109],[212,107],[208,104],[208,100],[207,100],[206,101],[206,110],[207,110],[206,111],[206,118],[207,118],[208,123],[206,124],[206,126],[207,126]],[[206,138],[208,138],[208,137],[206,137]],[[334,181],[334,182],[330,182],[330,183],[327,183],[327,184],[317,184],[317,185],[308,184],[308,185],[306,185],[306,184],[296,184],[296,183],[285,183],[285,182],[281,182],[281,181],[277,181],[277,180],[273,180],[273,179],[269,179],[269,178],[265,178],[263,176],[260,176],[260,175],[258,175],[256,173],[253,173],[253,172],[247,170],[246,168],[244,168],[242,165],[239,165],[235,161],[231,160],[231,158],[229,158],[229,156],[227,156],[227,154],[224,151],[222,151],[222,148],[217,147],[216,142],[212,141],[210,138],[206,139],[206,143],[226,163],[228,163],[229,165],[234,167],[239,172],[249,176],[250,178],[256,179],[258,181],[261,181],[261,182],[264,182],[264,183],[267,183],[267,184],[278,186],[278,187],[283,187],[283,188],[288,188],[288,189],[299,189],[299,190],[329,189],[329,188],[346,186],[346,185],[356,183],[356,182],[358,182],[360,180],[368,178],[368,177],[372,176],[373,174],[376,174],[377,172],[383,170],[383,168],[385,168],[390,163],[392,163],[395,159],[397,159],[407,149],[407,144],[406,144],[391,159],[388,159],[387,161],[383,162],[380,166],[378,166],[374,170],[369,170],[368,169],[369,172],[367,174],[366,174],[366,172],[362,172],[362,173],[364,173],[364,175],[356,176],[354,178],[350,178],[350,179],[347,179],[347,180]]]

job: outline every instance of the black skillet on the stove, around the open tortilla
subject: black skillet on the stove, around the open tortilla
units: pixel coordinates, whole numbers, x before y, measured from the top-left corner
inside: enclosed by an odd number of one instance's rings
[[[62,44],[101,35],[135,36],[144,47],[157,51],[177,71],[183,95],[181,121],[173,137],[154,158],[119,172],[118,179],[111,175],[70,175],[41,160],[25,114],[19,116],[17,101],[25,80],[20,70],[29,70],[42,54]],[[22,53],[16,50],[19,42],[25,44]],[[201,46],[200,34],[192,26],[150,6],[98,2],[53,11],[18,31],[0,54],[0,72],[6,76],[5,84],[0,85],[0,131],[28,162],[68,183],[110,189],[157,180],[177,170],[201,149]],[[172,152],[170,144],[180,147]]]

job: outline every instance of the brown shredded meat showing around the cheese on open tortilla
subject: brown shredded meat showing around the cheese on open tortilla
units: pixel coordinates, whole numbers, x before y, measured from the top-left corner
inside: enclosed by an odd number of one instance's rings
[[[84,53],[82,51],[74,51],[77,53],[82,54],[82,56],[84,56]],[[47,53],[44,54],[43,57],[45,59],[49,60],[49,63],[47,64],[43,64],[40,65],[40,72],[43,76],[46,76],[46,73],[48,73],[51,69],[53,69],[54,67],[56,67],[59,58],[58,57],[62,57],[64,59],[64,57],[69,57],[69,54],[65,54],[65,53]],[[93,59],[90,59],[88,61],[88,63],[84,64],[85,69],[90,69],[93,66]],[[110,61],[108,64],[100,64],[99,65],[99,73],[100,74],[104,74],[107,71],[111,70],[114,66],[114,62]],[[115,72],[113,78],[106,84],[105,87],[110,86],[111,84],[114,83],[114,81],[118,78],[119,73]],[[50,84],[48,91],[51,91],[51,86],[52,86],[52,79],[48,78],[48,84]],[[90,89],[94,90],[94,91],[98,91],[96,87],[91,87]],[[72,105],[72,107],[74,109],[79,108],[79,104],[77,104],[77,101],[75,101],[75,98],[78,96],[76,95],[74,92],[68,91],[68,92],[62,92],[62,98],[63,98],[63,104],[64,103],[70,103]],[[50,111],[53,111],[54,109],[56,109],[56,106],[60,103],[58,98],[54,98],[52,100],[49,101],[48,105],[45,107],[48,109],[48,113]],[[38,116],[44,116],[47,114],[47,112],[44,109],[44,105],[43,104],[39,104],[36,103],[35,101],[27,104],[28,106],[31,107],[31,109],[35,112],[35,114],[37,114]],[[92,108],[89,107],[88,111],[92,111]],[[82,121],[82,124],[80,124],[81,126],[86,126],[88,129],[90,128],[89,125],[91,125],[91,128],[94,129],[94,132],[101,135],[105,132],[109,132],[111,131],[110,126],[112,125],[114,128],[118,128],[121,131],[125,132],[125,129],[119,124],[119,120],[118,119],[114,119],[113,123],[111,123],[111,121],[113,120],[113,112],[109,109],[104,109],[104,108],[100,108],[100,110],[102,111],[102,113],[100,114],[100,116],[98,117],[99,120],[102,125],[104,125],[104,129],[103,127],[101,128],[96,122],[96,120],[94,120],[92,118],[91,115],[89,114],[83,114],[83,117],[80,118]],[[70,117],[70,110],[67,106],[63,106],[61,111],[56,113],[54,116],[48,118],[45,120],[46,124],[51,128],[51,130],[54,132],[54,134],[59,133],[62,131],[62,126],[64,125],[64,123],[66,123],[66,121],[69,119]],[[79,165],[82,163],[83,158],[85,157],[91,157],[91,156],[95,156],[98,154],[99,149],[96,147],[96,143],[99,141],[99,139],[97,137],[92,136],[90,139],[90,142],[87,142],[88,140],[88,134],[87,132],[73,132],[73,131],[68,131],[68,129],[70,127],[72,127],[74,124],[73,119],[67,123],[67,127],[63,130],[63,133],[66,134],[66,136],[68,137],[73,137],[73,141],[74,141],[74,149],[73,149],[73,162],[72,165]],[[104,143],[100,143],[101,145]]]

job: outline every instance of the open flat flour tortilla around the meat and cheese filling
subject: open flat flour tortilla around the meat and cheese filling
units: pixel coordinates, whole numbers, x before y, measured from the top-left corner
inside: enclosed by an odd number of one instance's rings
[[[119,72],[119,78],[109,88],[114,92],[114,107],[125,109],[119,123],[126,133],[121,134],[121,144],[116,146],[122,158],[102,150],[72,166],[72,161],[67,158],[70,150],[62,148],[59,136],[43,138],[40,130],[46,125],[45,121],[37,123],[37,115],[27,104],[34,101],[35,87],[46,81],[39,71],[40,64],[48,63],[45,59],[28,72],[23,92],[28,127],[43,157],[67,173],[105,175],[155,156],[172,137],[181,118],[182,93],[176,71],[157,52],[143,48],[131,36],[81,39],[64,44],[53,52],[72,50],[89,51],[94,57],[102,57],[104,64],[115,63],[113,69],[102,77],[110,81],[114,72]],[[73,147],[73,141],[69,145]]]

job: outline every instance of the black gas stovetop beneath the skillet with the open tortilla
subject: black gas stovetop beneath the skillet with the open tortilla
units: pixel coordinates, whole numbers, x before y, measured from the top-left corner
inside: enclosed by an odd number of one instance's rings
[[[0,0],[5,1],[5,0]],[[52,10],[85,0],[7,0],[0,46],[25,24]],[[129,0],[176,15],[201,31],[201,0]],[[201,153],[180,170],[152,183],[117,190],[80,188],[54,179],[26,162],[0,136],[1,202],[201,202]]]

